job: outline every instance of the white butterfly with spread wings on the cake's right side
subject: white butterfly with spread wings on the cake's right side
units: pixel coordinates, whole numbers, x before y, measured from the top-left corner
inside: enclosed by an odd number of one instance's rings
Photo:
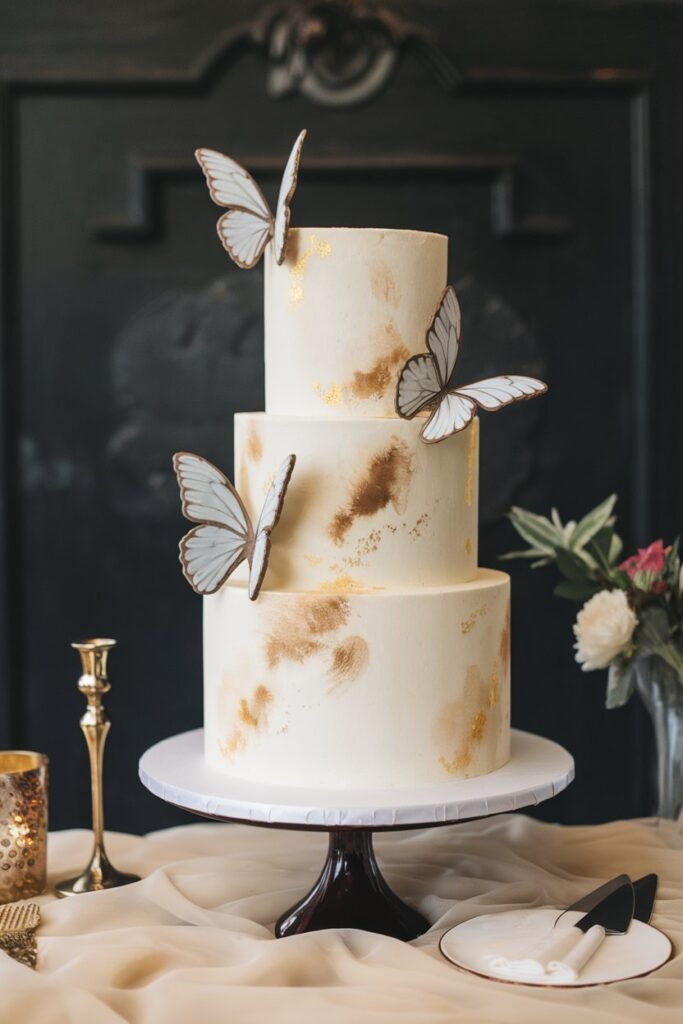
[[[548,390],[543,381],[516,374],[451,387],[461,334],[460,306],[449,285],[427,331],[429,352],[408,360],[396,388],[396,412],[404,420],[412,420],[422,409],[431,410],[422,429],[422,439],[428,444],[464,430],[474,418],[477,406],[495,413],[512,401],[533,398]]]

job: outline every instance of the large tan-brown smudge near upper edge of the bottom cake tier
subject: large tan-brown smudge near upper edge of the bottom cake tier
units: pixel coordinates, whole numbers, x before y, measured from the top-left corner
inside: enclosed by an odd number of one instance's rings
[[[342,597],[297,597],[279,612],[265,634],[270,669],[281,662],[303,663],[323,648],[321,637],[346,625],[350,608]]]

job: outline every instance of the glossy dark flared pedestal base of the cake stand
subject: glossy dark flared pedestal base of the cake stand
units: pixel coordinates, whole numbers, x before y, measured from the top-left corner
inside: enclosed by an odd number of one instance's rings
[[[369,828],[330,833],[321,876],[302,900],[282,915],[275,935],[298,935],[323,928],[361,928],[409,941],[429,922],[396,896],[375,858]]]

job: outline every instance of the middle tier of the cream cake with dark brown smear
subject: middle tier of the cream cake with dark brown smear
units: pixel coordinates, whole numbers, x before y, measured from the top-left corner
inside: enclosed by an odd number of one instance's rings
[[[477,571],[478,422],[441,444],[417,423],[241,413],[234,480],[258,518],[273,475],[297,463],[267,589],[438,587]]]

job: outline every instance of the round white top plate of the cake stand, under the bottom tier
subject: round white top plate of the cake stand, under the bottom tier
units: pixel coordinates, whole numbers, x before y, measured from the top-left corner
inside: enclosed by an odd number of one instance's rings
[[[412,828],[514,811],[549,800],[573,778],[570,754],[542,736],[512,730],[512,754],[488,775],[392,788],[326,790],[251,782],[210,768],[204,731],[164,739],[140,758],[143,785],[207,817],[303,828]]]

